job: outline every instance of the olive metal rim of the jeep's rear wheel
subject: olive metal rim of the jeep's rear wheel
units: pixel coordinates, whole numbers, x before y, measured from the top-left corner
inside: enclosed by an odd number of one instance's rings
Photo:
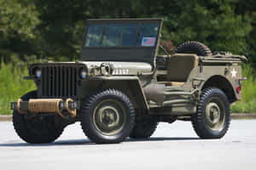
[[[206,121],[208,127],[214,131],[221,131],[224,128],[225,110],[220,99],[213,98],[207,103]]]

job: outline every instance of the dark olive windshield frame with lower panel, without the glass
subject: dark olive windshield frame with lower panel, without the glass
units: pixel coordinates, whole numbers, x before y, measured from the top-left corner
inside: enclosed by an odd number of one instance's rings
[[[154,67],[154,59],[160,42],[162,19],[96,19],[87,20],[81,51],[82,61],[146,62]],[[90,24],[158,24],[154,46],[84,47]]]

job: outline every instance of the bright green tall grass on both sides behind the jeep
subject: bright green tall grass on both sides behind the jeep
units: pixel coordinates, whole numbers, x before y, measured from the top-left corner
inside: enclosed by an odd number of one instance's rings
[[[10,102],[20,99],[20,96],[26,94],[36,86],[32,80],[24,80],[28,75],[26,64],[4,64],[0,67],[0,115],[9,115]],[[247,81],[242,82],[242,100],[231,105],[231,112],[250,113],[256,112],[256,79],[255,71],[250,65],[243,65],[243,77]]]

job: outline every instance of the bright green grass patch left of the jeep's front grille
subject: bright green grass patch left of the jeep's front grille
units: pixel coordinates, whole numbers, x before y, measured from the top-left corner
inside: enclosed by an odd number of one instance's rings
[[[25,75],[28,75],[28,71],[24,63],[6,65],[2,62],[0,69],[0,114],[10,114],[11,101],[16,101],[23,94],[36,89],[33,81],[23,80]]]

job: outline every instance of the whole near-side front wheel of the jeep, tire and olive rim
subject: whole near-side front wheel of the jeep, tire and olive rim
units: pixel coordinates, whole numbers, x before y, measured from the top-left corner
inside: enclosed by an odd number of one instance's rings
[[[103,90],[82,106],[81,126],[96,144],[119,143],[131,133],[135,112],[131,100],[116,89]]]

